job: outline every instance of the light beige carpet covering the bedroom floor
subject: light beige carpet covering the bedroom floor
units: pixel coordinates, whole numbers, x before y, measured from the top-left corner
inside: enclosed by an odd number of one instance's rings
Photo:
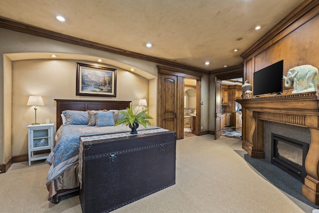
[[[242,141],[213,135],[177,141],[176,184],[114,213],[311,213],[314,208],[282,192],[246,163]],[[0,212],[81,213],[79,196],[47,201],[49,166],[12,164],[0,174]]]

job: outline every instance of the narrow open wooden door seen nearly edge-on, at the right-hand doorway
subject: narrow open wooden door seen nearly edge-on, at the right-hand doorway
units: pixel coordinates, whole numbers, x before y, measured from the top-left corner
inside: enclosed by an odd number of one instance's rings
[[[221,119],[221,80],[215,77],[216,83],[216,107],[215,107],[215,140],[221,135],[221,125],[224,125]]]

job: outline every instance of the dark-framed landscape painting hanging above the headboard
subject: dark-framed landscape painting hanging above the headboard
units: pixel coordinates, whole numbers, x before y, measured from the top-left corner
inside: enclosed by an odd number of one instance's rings
[[[116,97],[116,69],[77,63],[76,95]]]

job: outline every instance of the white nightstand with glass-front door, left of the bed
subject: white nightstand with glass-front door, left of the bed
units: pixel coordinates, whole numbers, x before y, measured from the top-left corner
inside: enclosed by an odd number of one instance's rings
[[[54,124],[27,126],[29,166],[31,161],[46,159],[53,150],[53,126]],[[35,151],[41,150],[50,150],[50,152],[34,154]]]

